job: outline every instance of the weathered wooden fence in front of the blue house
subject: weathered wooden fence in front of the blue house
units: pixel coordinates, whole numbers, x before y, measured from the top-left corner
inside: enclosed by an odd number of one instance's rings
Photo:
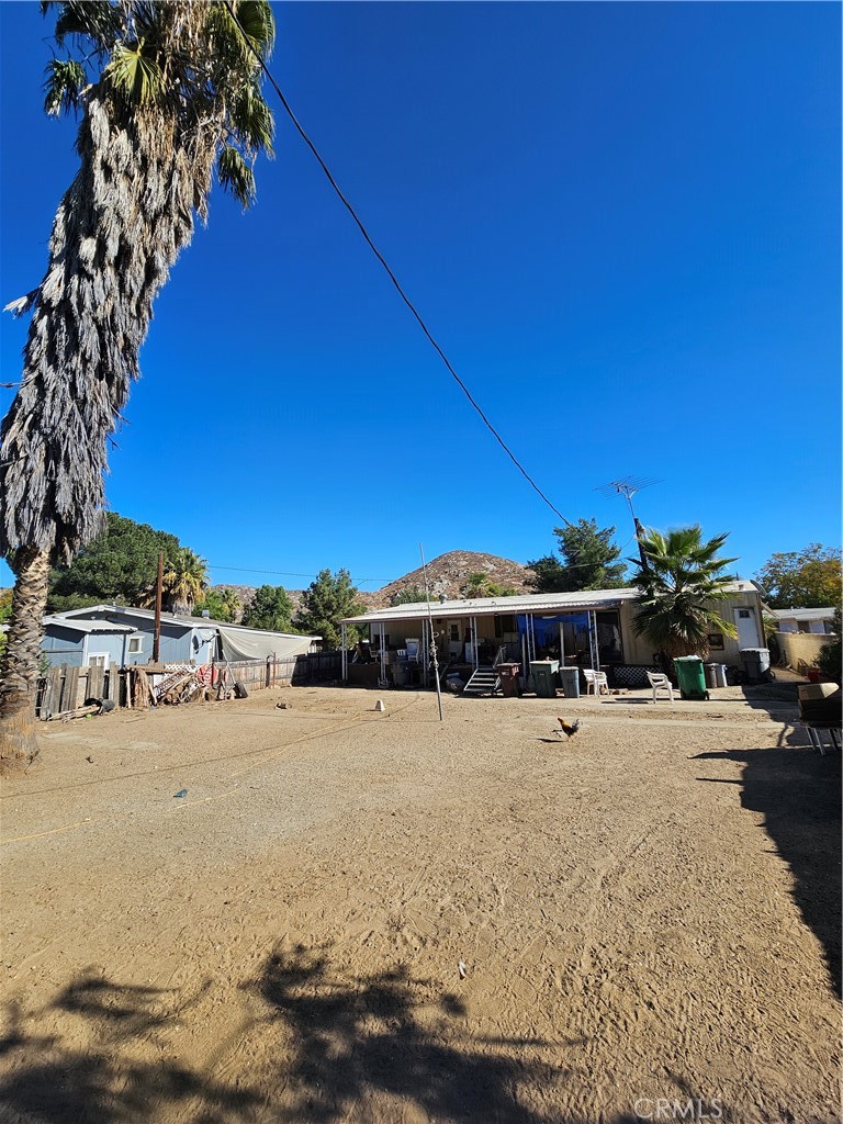
[[[216,673],[219,674],[225,667],[224,663],[216,664]],[[228,669],[233,678],[250,692],[268,687],[328,683],[339,680],[342,653],[316,652],[289,660],[238,660],[228,663]],[[167,665],[160,665],[158,678],[163,678],[166,670]],[[38,681],[36,714],[43,722],[47,722],[60,714],[75,710],[87,699],[111,699],[117,706],[130,706],[128,676],[126,668],[71,668],[66,663],[51,668]],[[216,676],[214,682],[217,682]]]

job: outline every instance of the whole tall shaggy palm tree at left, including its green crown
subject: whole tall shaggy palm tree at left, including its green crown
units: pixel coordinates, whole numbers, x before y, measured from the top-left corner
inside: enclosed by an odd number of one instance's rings
[[[0,668],[0,753],[31,740],[33,688],[53,561],[103,529],[106,441],[117,427],[153,300],[205,220],[216,169],[247,207],[254,160],[271,153],[261,64],[268,0],[69,0],[45,109],[81,112],[80,169],[56,212],[20,390],[0,428],[0,554],[15,600]]]

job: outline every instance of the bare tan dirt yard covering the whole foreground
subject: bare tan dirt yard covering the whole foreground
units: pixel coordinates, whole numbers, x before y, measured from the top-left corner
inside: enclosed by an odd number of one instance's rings
[[[840,754],[714,694],[51,723],[0,805],[0,1120],[839,1120]]]

